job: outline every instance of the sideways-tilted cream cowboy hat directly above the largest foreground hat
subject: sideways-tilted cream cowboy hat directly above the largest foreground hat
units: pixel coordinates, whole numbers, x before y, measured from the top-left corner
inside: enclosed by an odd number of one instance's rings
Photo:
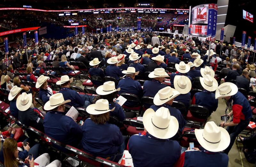
[[[180,95],[180,93],[178,91],[171,88],[170,86],[166,86],[163,89],[160,89],[156,93],[153,102],[155,105],[162,105],[162,104],[166,103],[167,101],[170,101],[173,98],[176,98],[179,95]]]

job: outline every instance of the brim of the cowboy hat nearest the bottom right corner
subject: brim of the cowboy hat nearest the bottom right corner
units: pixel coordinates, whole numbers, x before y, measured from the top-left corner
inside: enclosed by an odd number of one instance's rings
[[[204,129],[195,129],[196,139],[204,149],[212,152],[220,152],[229,146],[230,137],[229,137],[228,131],[223,127],[218,127],[218,128],[220,129],[220,133],[221,133],[220,142],[218,143],[207,142],[203,136]]]

